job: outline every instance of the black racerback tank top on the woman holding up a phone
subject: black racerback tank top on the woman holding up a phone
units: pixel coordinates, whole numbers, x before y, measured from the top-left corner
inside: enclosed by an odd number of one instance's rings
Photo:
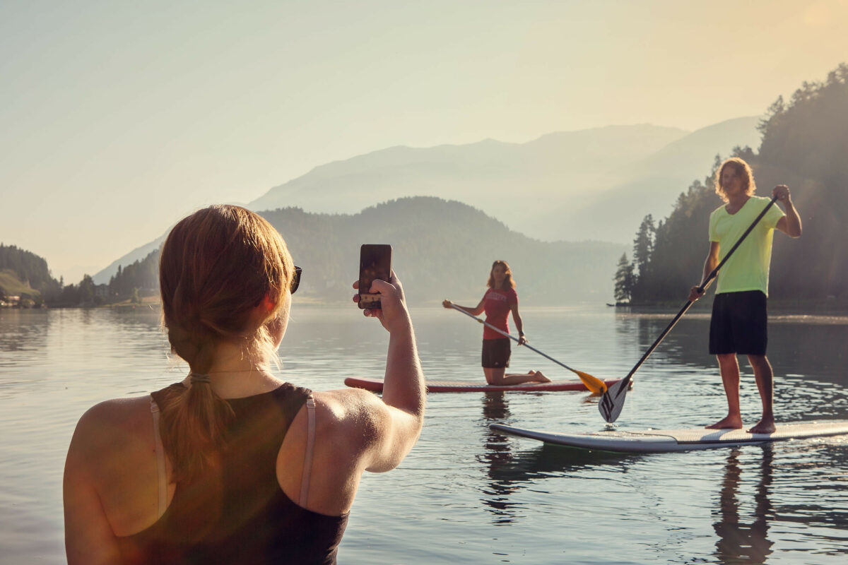
[[[164,392],[152,395],[159,406]],[[230,399],[235,418],[220,465],[190,484],[176,485],[156,523],[118,538],[122,561],[335,563],[348,513],[326,516],[299,507],[276,479],[282,440],[309,395],[309,390],[286,383],[275,391]]]

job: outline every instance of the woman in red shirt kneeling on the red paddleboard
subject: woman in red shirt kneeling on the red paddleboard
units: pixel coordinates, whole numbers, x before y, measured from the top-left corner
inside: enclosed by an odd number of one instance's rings
[[[518,345],[527,343],[524,336],[522,317],[518,313],[518,294],[516,282],[512,280],[512,271],[505,261],[492,263],[488,274],[488,291],[476,307],[454,304],[446,300],[442,305],[446,308],[458,307],[475,316],[485,312],[486,322],[499,330],[510,333],[507,318],[512,313],[512,320],[518,330]],[[500,335],[488,326],[483,327],[483,373],[489,385],[521,385],[522,383],[550,383],[550,379],[541,371],[527,373],[505,374],[510,366],[510,338]]]

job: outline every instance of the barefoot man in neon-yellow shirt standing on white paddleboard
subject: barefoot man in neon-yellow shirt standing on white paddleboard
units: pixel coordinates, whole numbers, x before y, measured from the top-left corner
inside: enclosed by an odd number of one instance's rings
[[[771,206],[768,198],[756,197],[754,191],[754,174],[748,163],[735,157],[722,163],[716,174],[716,193],[725,204],[710,214],[710,252],[704,262],[703,280],[739,241],[751,221]],[[789,197],[789,187],[775,186],[772,196],[784,206],[786,213],[777,207],[769,208],[718,274],[710,322],[710,354],[718,359],[724,393],[728,397],[728,415],[707,428],[742,427],[736,357],[740,354],[748,357],[762,398],[762,418],[748,431],[752,434],[774,431],[773,372],[766,357],[766,298],[772,235],[778,229],[790,237],[800,237],[801,218]],[[693,286],[689,301],[695,302],[703,295],[704,291]]]

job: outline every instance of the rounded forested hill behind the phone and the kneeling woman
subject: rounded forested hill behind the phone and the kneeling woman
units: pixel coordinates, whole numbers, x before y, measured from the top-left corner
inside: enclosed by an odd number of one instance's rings
[[[627,249],[599,241],[533,240],[467,204],[435,197],[400,198],[354,214],[279,208],[262,215],[304,269],[298,296],[319,302],[349,303],[362,243],[393,246],[393,268],[409,302],[419,304],[444,298],[476,304],[495,259],[510,263],[522,303],[609,302],[611,273]],[[153,241],[139,247],[115,261],[114,269],[157,246]]]

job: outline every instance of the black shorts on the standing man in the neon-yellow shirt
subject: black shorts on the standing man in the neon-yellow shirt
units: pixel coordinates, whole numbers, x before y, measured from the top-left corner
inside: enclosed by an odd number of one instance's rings
[[[710,354],[765,355],[768,342],[766,295],[722,292],[712,302]]]

